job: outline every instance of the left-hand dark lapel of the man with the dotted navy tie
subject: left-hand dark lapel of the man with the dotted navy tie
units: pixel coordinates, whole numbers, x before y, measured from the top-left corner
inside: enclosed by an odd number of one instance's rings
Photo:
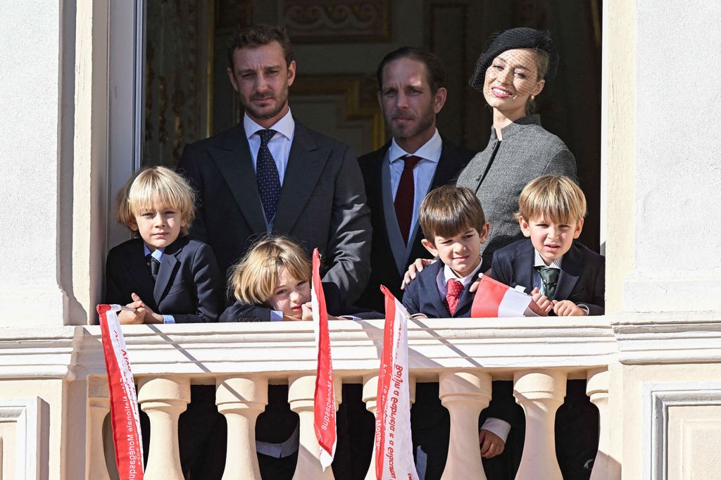
[[[242,123],[231,130],[223,148],[211,148],[211,156],[253,233],[265,233],[265,216]]]

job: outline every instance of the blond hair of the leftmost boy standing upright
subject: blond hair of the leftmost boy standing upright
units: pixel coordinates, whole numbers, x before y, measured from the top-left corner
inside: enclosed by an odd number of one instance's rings
[[[195,219],[194,202],[195,192],[180,174],[165,166],[149,166],[136,173],[118,192],[118,222],[137,234],[136,215],[157,203],[180,211],[185,223],[180,234],[187,235]]]

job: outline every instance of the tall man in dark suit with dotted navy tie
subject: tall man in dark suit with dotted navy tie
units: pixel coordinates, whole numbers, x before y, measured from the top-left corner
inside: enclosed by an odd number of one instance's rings
[[[198,193],[190,235],[213,247],[226,272],[260,236],[286,234],[327,270],[350,302],[370,273],[371,224],[350,147],[298,123],[288,107],[296,76],[283,30],[255,25],[229,47],[228,76],[245,115],[234,128],[187,145],[178,168]]]

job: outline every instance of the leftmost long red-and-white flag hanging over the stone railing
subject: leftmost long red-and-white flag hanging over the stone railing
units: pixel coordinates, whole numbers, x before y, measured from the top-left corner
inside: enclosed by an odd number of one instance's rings
[[[120,480],[143,480],[143,440],[138,399],[123,329],[118,323],[119,310],[120,305],[97,306],[110,390],[112,443],[115,444],[115,464]]]

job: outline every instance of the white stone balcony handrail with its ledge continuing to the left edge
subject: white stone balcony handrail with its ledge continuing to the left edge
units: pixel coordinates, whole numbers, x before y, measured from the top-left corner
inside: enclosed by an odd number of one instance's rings
[[[333,365],[342,378],[377,371],[384,321],[330,324]],[[315,370],[311,322],[128,325],[134,375],[259,373],[284,379]],[[423,319],[408,325],[412,373],[435,380],[443,368],[483,368],[510,378],[518,368],[562,368],[571,375],[616,362],[604,317],[567,319]],[[9,354],[9,355],[6,355]],[[0,378],[103,375],[99,326],[0,329]]]

